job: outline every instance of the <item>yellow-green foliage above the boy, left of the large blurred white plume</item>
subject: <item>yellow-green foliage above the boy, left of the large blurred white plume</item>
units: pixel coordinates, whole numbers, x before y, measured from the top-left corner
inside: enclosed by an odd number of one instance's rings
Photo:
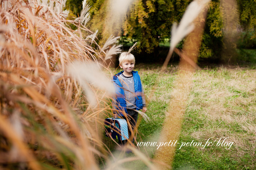
[[[181,19],[191,0],[138,0],[125,21],[123,36],[138,41],[138,51],[152,53],[170,38],[173,22]]]

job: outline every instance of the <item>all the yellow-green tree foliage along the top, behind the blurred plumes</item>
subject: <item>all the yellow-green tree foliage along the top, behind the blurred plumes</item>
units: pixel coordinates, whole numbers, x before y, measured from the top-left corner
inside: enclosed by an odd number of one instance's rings
[[[79,0],[68,0],[67,7],[74,11],[81,8]],[[129,12],[126,14],[123,22],[120,42],[124,46],[131,46],[138,42],[136,50],[139,53],[159,53],[159,45],[168,45],[166,39],[171,37],[171,27],[173,22],[181,20],[188,4],[192,0],[136,0],[130,5]],[[72,5],[70,5],[72,2]],[[106,22],[110,0],[87,0],[91,5],[91,20],[87,27],[96,31],[99,30],[97,37],[101,42],[102,39],[108,38]],[[80,4],[80,5],[79,5]],[[254,43],[256,38],[256,2],[255,0],[238,0],[237,12],[239,15],[242,30],[251,30],[250,43]],[[205,31],[202,36],[199,58],[220,58],[224,47],[223,43],[223,16],[221,14],[221,3],[219,0],[213,0],[208,7],[208,14],[205,23]],[[244,34],[243,34],[244,35]],[[244,36],[241,36],[242,38]],[[242,39],[241,38],[241,39]],[[247,44],[247,41],[241,43]],[[101,44],[101,43],[99,43]],[[183,41],[178,48],[182,48]],[[242,46],[238,46],[239,48]],[[156,56],[156,55],[155,55]]]

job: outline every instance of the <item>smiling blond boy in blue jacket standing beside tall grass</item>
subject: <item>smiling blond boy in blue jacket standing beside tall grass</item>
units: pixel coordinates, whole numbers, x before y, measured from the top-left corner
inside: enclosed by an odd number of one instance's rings
[[[116,96],[112,103],[113,108],[115,109],[114,117],[116,118],[118,113],[123,119],[129,120],[132,128],[130,129],[128,125],[129,138],[131,137],[131,131],[136,128],[138,119],[138,112],[134,110],[142,110],[144,113],[147,111],[140,76],[138,71],[133,71],[134,64],[135,57],[131,53],[121,53],[119,57],[119,66],[124,71],[117,73],[113,77],[116,90]],[[131,141],[133,142],[134,139]],[[122,143],[122,141],[119,141],[119,143]]]

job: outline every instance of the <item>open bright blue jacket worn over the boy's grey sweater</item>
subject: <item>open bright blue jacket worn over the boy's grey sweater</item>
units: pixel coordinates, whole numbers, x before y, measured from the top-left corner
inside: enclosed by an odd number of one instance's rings
[[[114,75],[113,81],[114,81],[114,87],[116,91],[116,102],[113,102],[114,105],[117,105],[117,109],[119,111],[125,111],[127,113],[126,109],[126,104],[125,104],[125,93],[124,89],[122,88],[122,85],[120,81],[118,80],[118,76],[122,74],[124,71],[121,71]],[[141,81],[140,81],[140,76],[138,74],[138,71],[132,71],[131,72],[133,75],[133,80],[134,80],[134,89],[135,89],[135,94],[136,94],[136,110],[141,110],[143,107],[143,102],[142,102],[142,89],[141,89]],[[122,112],[119,112],[120,116],[124,116]]]

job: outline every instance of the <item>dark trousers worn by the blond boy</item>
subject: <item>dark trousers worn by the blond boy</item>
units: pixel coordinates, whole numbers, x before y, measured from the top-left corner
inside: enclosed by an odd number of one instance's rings
[[[134,110],[136,110],[136,108],[134,108]],[[131,109],[127,109],[127,116],[121,116],[122,119],[125,119],[127,121],[127,126],[128,126],[128,134],[129,134],[129,139],[133,142],[134,139],[131,139],[131,132],[136,128],[136,123],[138,120],[138,112],[133,111]],[[129,126],[129,123],[131,125],[131,127]],[[126,140],[119,140],[118,143],[122,143],[125,144],[127,141]]]

